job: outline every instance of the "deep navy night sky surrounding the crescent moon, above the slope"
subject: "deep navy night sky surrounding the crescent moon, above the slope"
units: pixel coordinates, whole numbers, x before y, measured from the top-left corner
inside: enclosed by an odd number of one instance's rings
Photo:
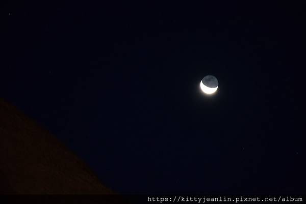
[[[12,2],[0,93],[120,193],[304,193],[305,5]],[[219,89],[199,90],[212,74]]]

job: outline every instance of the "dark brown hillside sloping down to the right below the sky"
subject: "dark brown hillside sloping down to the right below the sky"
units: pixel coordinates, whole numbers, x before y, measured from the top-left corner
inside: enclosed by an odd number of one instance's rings
[[[0,99],[0,194],[109,194],[77,156]]]

